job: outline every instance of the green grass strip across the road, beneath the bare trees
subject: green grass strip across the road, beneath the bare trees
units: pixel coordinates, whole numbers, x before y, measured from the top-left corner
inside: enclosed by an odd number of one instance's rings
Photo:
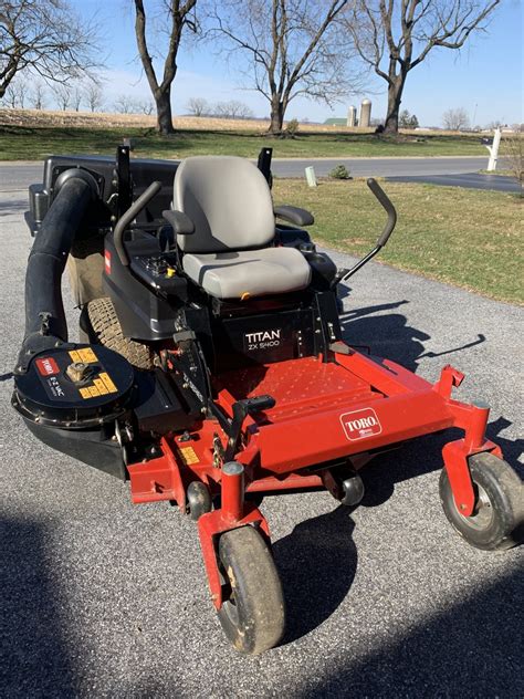
[[[239,155],[255,158],[264,146],[274,157],[373,157],[485,155],[475,136],[421,135],[397,140],[371,134],[303,133],[271,138],[254,132],[179,131],[165,137],[148,128],[23,127],[0,125],[0,160],[40,160],[52,154],[113,155],[123,137],[135,157],[182,158]]]

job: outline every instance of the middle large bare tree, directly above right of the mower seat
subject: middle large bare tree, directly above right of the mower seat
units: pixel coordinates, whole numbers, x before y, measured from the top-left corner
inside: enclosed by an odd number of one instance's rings
[[[281,134],[292,100],[327,104],[352,91],[348,58],[339,50],[337,21],[349,0],[221,0],[210,35],[243,59],[249,86],[271,105],[270,132]]]

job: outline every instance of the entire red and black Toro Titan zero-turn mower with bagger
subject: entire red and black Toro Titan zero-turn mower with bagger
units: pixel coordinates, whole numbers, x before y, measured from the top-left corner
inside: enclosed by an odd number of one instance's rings
[[[479,549],[517,543],[522,482],[485,438],[489,407],[452,398],[342,337],[337,285],[386,244],[337,270],[274,207],[271,149],[180,163],[50,157],[30,188],[35,241],[12,404],[46,445],[128,480],[135,503],[167,500],[198,521],[220,623],[234,647],[266,650],[284,604],[262,497],[326,489],[355,507],[377,453],[447,428],[440,499]],[[276,223],[275,223],[276,219]],[[282,222],[281,222],[282,221]],[[81,343],[67,340],[69,261]]]

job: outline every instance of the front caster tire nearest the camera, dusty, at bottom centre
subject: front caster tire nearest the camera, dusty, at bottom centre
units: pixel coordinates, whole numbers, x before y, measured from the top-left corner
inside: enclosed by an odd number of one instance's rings
[[[231,587],[218,613],[226,635],[243,654],[273,648],[284,634],[284,595],[264,539],[253,526],[226,532],[219,540],[219,559]]]

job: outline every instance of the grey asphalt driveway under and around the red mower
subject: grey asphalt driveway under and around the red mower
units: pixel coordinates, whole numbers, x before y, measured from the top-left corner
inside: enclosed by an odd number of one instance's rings
[[[24,191],[0,195],[2,697],[524,696],[524,550],[478,551],[448,524],[449,435],[369,466],[353,512],[327,493],[264,501],[289,630],[263,656],[237,655],[193,523],[167,504],[132,505],[125,483],[36,441],[9,405],[25,207]],[[369,264],[345,310],[354,344],[431,380],[447,363],[463,371],[458,395],[490,400],[489,436],[522,476],[521,309]]]

